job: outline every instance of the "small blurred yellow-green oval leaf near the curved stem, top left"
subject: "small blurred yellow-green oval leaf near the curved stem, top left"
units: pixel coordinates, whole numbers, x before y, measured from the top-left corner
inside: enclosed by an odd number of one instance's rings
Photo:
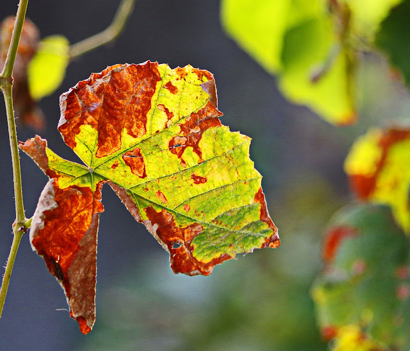
[[[27,69],[30,95],[39,100],[52,94],[61,84],[69,62],[70,43],[66,37],[44,38]]]

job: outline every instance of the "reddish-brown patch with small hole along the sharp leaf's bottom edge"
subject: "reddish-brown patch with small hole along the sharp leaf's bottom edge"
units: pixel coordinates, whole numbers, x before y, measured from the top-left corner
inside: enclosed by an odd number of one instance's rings
[[[151,228],[157,225],[153,233],[163,243],[171,254],[171,268],[174,273],[185,273],[187,275],[210,275],[215,265],[222,263],[224,260],[232,258],[223,254],[211,262],[204,264],[198,261],[193,255],[191,242],[194,237],[199,235],[203,228],[200,224],[194,223],[188,227],[177,227],[171,213],[163,209],[160,212],[155,211],[152,206],[144,209],[150,221]],[[174,244],[180,246],[173,248]]]

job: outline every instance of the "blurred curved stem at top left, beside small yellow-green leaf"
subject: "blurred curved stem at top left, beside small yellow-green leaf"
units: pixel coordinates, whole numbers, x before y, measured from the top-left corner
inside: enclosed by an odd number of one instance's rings
[[[134,8],[135,0],[122,0],[110,26],[87,39],[81,40],[70,47],[69,56],[76,58],[114,40],[124,28],[128,17]]]

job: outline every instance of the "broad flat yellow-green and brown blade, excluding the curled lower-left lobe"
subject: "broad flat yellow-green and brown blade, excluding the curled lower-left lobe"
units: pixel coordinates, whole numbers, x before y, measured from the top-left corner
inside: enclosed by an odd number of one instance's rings
[[[279,246],[250,138],[221,125],[216,104],[209,72],[149,61],[93,74],[60,102],[65,142],[189,275]]]

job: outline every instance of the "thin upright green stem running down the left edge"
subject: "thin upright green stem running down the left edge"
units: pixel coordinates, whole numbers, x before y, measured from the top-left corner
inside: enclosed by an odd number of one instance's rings
[[[4,301],[6,299],[7,289],[9,287],[10,275],[13,270],[14,260],[16,257],[18,245],[27,231],[26,215],[24,213],[23,205],[23,191],[22,191],[22,176],[20,171],[20,159],[18,155],[16,124],[14,120],[14,109],[12,99],[12,73],[14,61],[17,54],[18,43],[22,35],[24,18],[26,17],[28,0],[20,0],[18,3],[18,10],[16,20],[14,23],[13,34],[11,36],[9,51],[7,53],[6,62],[4,64],[3,72],[0,74],[0,89],[3,92],[6,103],[7,124],[9,128],[11,160],[13,165],[13,181],[14,181],[14,198],[16,205],[16,220],[13,224],[13,244],[10,249],[9,259],[7,260],[6,272],[3,277],[2,289],[0,290],[0,318],[3,312]]]

